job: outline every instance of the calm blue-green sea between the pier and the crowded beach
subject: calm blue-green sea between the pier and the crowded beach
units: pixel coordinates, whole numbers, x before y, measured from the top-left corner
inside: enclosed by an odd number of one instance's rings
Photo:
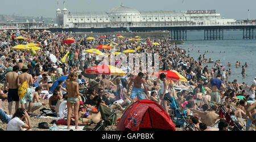
[[[228,62],[232,64],[230,67],[232,74],[228,81],[237,79],[238,83],[245,82],[248,85],[253,83],[256,77],[256,39],[254,32],[253,40],[243,40],[242,31],[224,31],[224,40],[204,40],[204,32],[187,32],[187,41],[183,45],[179,45],[183,49],[188,49],[188,54],[197,59],[199,55],[205,54],[205,58],[211,58],[213,61],[220,59],[222,66],[229,69]],[[192,50],[193,49],[193,50]],[[200,50],[200,53],[198,53]],[[208,53],[205,53],[208,51]],[[221,51],[221,53],[220,53]],[[225,53],[224,53],[225,52]],[[236,62],[241,62],[241,67],[236,68]],[[242,77],[242,65],[248,64],[245,68],[245,78]],[[212,67],[214,63],[204,63],[204,66]]]

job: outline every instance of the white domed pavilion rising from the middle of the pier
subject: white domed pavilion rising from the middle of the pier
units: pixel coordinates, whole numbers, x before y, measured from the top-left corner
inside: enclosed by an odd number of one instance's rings
[[[126,6],[117,6],[106,12],[111,21],[116,22],[134,22],[141,21],[141,12]]]

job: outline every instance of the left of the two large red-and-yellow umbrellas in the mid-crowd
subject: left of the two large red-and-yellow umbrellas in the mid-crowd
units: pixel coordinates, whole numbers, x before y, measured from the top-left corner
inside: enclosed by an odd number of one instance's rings
[[[108,64],[98,64],[87,69],[86,74],[102,74],[102,75],[126,75],[120,68],[110,66]]]

